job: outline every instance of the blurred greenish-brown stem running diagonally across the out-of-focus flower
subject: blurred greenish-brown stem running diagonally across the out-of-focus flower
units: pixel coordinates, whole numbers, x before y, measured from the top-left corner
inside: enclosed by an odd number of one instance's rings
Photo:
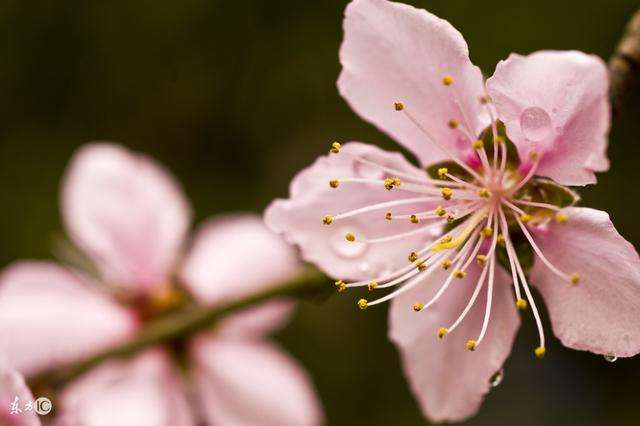
[[[305,269],[300,275],[281,285],[250,295],[244,299],[215,306],[190,306],[160,317],[142,326],[131,339],[118,346],[108,348],[88,358],[62,367],[54,367],[31,378],[33,386],[58,386],[82,373],[113,358],[126,358],[150,346],[168,343],[191,336],[213,326],[215,322],[233,311],[246,308],[273,297],[319,296],[327,289],[326,277],[313,268]]]

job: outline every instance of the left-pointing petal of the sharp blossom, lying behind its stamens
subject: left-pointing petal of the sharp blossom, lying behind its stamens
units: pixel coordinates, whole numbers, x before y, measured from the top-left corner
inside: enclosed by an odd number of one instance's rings
[[[265,212],[267,225],[284,234],[287,241],[300,246],[305,260],[318,265],[336,278],[367,278],[396,266],[405,266],[407,255],[432,238],[430,232],[378,244],[357,242],[363,238],[384,237],[415,230],[406,221],[389,223],[384,219],[386,210],[394,214],[425,211],[434,206],[428,203],[404,205],[393,209],[379,209],[367,214],[335,221],[327,226],[322,223],[325,214],[336,215],[375,203],[415,198],[421,194],[387,191],[380,183],[344,183],[338,188],[329,187],[334,178],[384,179],[382,170],[353,159],[364,157],[383,166],[407,174],[424,176],[424,172],[409,164],[402,155],[383,151],[373,145],[351,142],[337,155],[320,157],[300,172],[291,182],[290,198],[274,201]],[[409,194],[409,195],[407,195]],[[356,242],[345,240],[346,232],[354,232]]]

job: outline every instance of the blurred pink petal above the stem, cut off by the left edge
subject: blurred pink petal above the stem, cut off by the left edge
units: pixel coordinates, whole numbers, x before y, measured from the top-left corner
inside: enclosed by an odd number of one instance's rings
[[[0,276],[0,353],[25,375],[88,356],[137,328],[134,316],[49,262],[19,262]]]

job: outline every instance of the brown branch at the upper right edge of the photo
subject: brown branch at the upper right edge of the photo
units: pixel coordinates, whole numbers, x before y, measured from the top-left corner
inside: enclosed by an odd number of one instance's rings
[[[625,29],[616,50],[609,59],[610,96],[613,113],[620,113],[632,89],[637,89],[640,74],[640,10],[636,11]]]

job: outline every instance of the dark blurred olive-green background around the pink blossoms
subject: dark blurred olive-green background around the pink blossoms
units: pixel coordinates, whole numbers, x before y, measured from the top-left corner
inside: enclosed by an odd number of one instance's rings
[[[607,58],[637,7],[631,0],[412,3],[451,21],[488,75],[512,51],[579,49]],[[397,149],[335,88],[345,4],[2,0],[2,265],[51,256],[61,229],[59,180],[87,141],[119,141],[165,163],[198,221],[262,211],[330,140]],[[638,104],[614,122],[611,171],[581,191],[584,204],[610,212],[636,247]],[[279,339],[309,369],[329,424],[424,423],[386,339],[386,308],[363,315],[350,296],[304,303]],[[503,383],[468,424],[638,424],[640,359],[608,363],[552,339],[539,362],[536,342],[526,320]]]

